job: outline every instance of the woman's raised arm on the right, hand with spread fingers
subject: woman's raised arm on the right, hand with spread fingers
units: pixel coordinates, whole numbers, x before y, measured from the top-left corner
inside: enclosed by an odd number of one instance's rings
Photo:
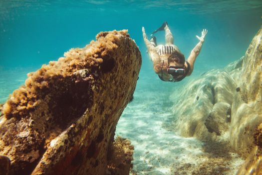
[[[188,60],[187,60],[187,61],[188,61],[189,64],[190,64],[190,70],[189,70],[187,76],[191,75],[191,73],[193,72],[194,63],[195,63],[195,61],[196,61],[197,56],[198,56],[199,53],[200,53],[200,50],[201,50],[201,48],[202,48],[202,45],[203,45],[203,43],[204,43],[204,41],[205,41],[204,38],[205,38],[205,36],[206,36],[207,33],[208,33],[208,30],[207,30],[207,29],[203,29],[201,37],[199,37],[198,35],[196,35],[196,37],[197,37],[200,41],[199,41],[199,42],[197,43],[197,45],[193,48],[193,50],[191,51],[191,53],[190,53],[190,55],[189,55],[189,57],[188,57]]]

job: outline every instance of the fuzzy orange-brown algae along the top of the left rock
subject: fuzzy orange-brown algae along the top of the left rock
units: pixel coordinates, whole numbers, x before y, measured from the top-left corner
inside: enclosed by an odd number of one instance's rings
[[[116,30],[113,32],[117,33]],[[127,35],[127,30],[122,30],[120,33]],[[105,56],[108,50],[117,48],[115,42],[119,38],[115,34],[107,34],[108,32],[100,32],[96,38],[107,36],[108,39],[99,43],[92,40],[84,48],[71,49],[65,52],[64,57],[60,57],[58,61],[50,61],[47,65],[43,64],[37,71],[28,73],[25,84],[14,90],[3,105],[2,112],[6,118],[25,116],[34,109],[37,99],[43,98],[51,90],[55,93],[56,90],[70,88],[59,89],[61,87],[57,85],[65,81],[66,77],[74,78],[75,83],[78,83],[79,77],[75,72],[79,69],[87,70],[83,80],[95,77],[90,75],[95,75],[99,66],[101,67],[103,62],[101,57]]]

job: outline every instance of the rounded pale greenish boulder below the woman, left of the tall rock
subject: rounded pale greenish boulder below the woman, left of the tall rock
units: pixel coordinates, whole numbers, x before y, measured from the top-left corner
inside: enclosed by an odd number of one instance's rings
[[[237,87],[230,73],[211,70],[185,87],[173,95],[175,129],[180,135],[204,141],[228,135],[233,91]]]

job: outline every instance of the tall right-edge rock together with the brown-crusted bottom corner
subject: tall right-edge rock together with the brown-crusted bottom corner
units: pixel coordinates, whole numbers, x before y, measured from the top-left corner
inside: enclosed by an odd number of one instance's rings
[[[230,141],[244,157],[237,174],[262,173],[262,27],[243,59],[239,92],[232,106]]]

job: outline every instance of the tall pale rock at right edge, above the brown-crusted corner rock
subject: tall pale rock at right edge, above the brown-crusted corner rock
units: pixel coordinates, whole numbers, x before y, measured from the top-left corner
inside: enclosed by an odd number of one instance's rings
[[[239,91],[234,94],[232,104],[230,141],[247,157],[255,147],[255,129],[262,123],[262,28],[246,52],[236,81]]]

